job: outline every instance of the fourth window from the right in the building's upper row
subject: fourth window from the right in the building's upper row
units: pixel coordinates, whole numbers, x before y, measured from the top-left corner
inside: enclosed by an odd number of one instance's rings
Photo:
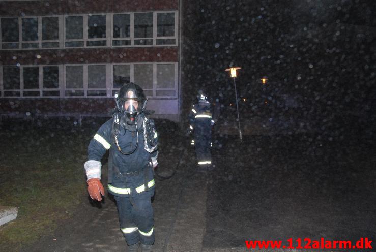
[[[88,41],[86,45],[105,46],[106,42],[106,15],[89,15]]]

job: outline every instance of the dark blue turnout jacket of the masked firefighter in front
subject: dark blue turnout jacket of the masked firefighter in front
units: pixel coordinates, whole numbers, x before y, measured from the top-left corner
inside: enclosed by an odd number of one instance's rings
[[[101,159],[109,150],[108,191],[120,197],[134,197],[141,194],[154,194],[154,171],[158,161],[158,134],[154,121],[143,114],[137,116],[135,125],[128,125],[124,117],[113,117],[97,131],[88,147],[88,161],[84,167],[86,176],[101,176]],[[115,120],[115,123],[114,123]],[[115,143],[113,127],[118,122],[117,134],[119,150]],[[138,142],[137,142],[138,141]],[[137,147],[136,147],[137,146]]]

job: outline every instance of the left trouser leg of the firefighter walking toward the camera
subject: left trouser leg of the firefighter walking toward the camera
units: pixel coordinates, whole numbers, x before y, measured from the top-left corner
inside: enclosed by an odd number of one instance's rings
[[[114,196],[119,213],[120,228],[128,245],[133,245],[139,241],[137,225],[133,220],[133,206],[128,197]],[[134,231],[133,231],[134,230]]]

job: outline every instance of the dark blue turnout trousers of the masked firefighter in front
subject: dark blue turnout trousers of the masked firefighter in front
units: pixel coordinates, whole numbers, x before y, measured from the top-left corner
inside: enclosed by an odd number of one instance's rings
[[[119,196],[114,198],[118,205],[120,229],[127,244],[130,246],[141,241],[142,244],[152,245],[154,212],[150,194],[142,194],[132,199]]]

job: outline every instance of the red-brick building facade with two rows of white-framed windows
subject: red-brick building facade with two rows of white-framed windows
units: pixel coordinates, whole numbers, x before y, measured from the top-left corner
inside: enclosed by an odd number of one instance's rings
[[[179,121],[178,0],[0,1],[0,114],[108,116],[128,82]]]

